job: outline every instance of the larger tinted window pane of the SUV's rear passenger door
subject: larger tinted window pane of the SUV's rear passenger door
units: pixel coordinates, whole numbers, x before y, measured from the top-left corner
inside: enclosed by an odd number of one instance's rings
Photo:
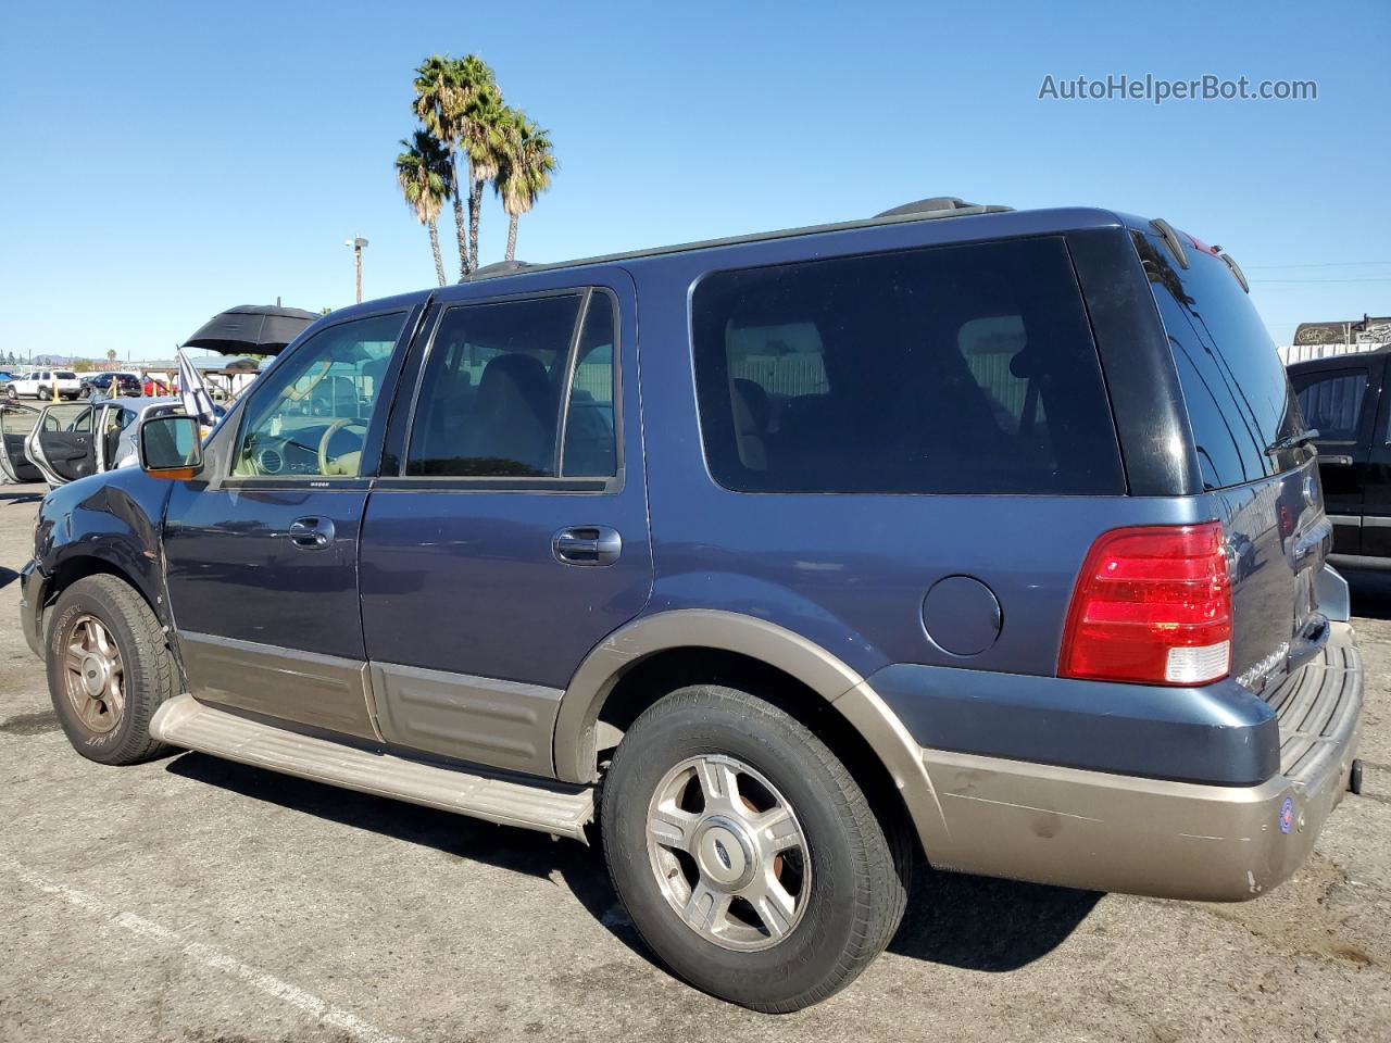
[[[445,312],[421,378],[406,473],[554,476],[559,388],[583,299]]]

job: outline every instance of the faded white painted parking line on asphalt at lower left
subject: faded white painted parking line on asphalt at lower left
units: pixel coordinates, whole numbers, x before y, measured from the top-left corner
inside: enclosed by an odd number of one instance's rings
[[[337,1004],[321,1000],[313,993],[300,989],[298,985],[292,985],[273,973],[262,971],[260,968],[245,964],[236,957],[228,955],[227,953],[213,948],[211,946],[206,946],[202,941],[185,941],[177,932],[170,930],[152,919],[118,909],[110,903],[97,898],[93,894],[88,894],[86,891],[79,891],[75,887],[54,883],[40,873],[19,865],[11,858],[0,857],[0,866],[3,866],[11,876],[29,884],[35,890],[61,898],[68,903],[68,905],[74,905],[85,912],[93,914],[95,916],[100,916],[102,919],[114,923],[115,926],[128,930],[146,941],[175,947],[189,960],[234,975],[235,978],[239,978],[250,985],[253,989],[295,1007],[324,1025],[341,1029],[349,1036],[363,1040],[363,1043],[402,1043],[402,1040],[396,1036],[391,1036],[378,1029],[376,1025],[367,1024],[352,1011],[346,1011]]]

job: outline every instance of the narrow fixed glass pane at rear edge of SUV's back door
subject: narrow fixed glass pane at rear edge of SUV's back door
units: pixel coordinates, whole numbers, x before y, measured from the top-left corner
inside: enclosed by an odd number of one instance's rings
[[[570,403],[565,414],[565,452],[561,473],[573,477],[609,477],[618,473],[618,438],[613,430],[613,323],[615,306],[595,292],[584,316],[576,355]]]

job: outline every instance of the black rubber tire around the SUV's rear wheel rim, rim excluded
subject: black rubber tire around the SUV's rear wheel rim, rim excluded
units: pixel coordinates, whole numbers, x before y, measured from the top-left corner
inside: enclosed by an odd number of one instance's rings
[[[734,758],[765,776],[805,836],[807,904],[769,948],[733,951],[697,933],[650,861],[647,814],[657,787],[700,755]],[[643,940],[696,987],[757,1011],[801,1010],[843,989],[889,944],[907,905],[911,847],[896,843],[897,827],[886,830],[846,766],[805,726],[733,688],[682,688],[633,723],[605,777],[601,829],[613,887]]]

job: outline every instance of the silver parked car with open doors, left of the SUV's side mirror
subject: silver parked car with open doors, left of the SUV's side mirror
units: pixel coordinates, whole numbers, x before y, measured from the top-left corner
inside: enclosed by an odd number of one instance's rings
[[[57,488],[89,474],[138,462],[135,430],[150,416],[174,416],[174,398],[99,399],[89,406],[33,407],[0,402],[4,452],[0,470],[10,481],[46,481]]]

